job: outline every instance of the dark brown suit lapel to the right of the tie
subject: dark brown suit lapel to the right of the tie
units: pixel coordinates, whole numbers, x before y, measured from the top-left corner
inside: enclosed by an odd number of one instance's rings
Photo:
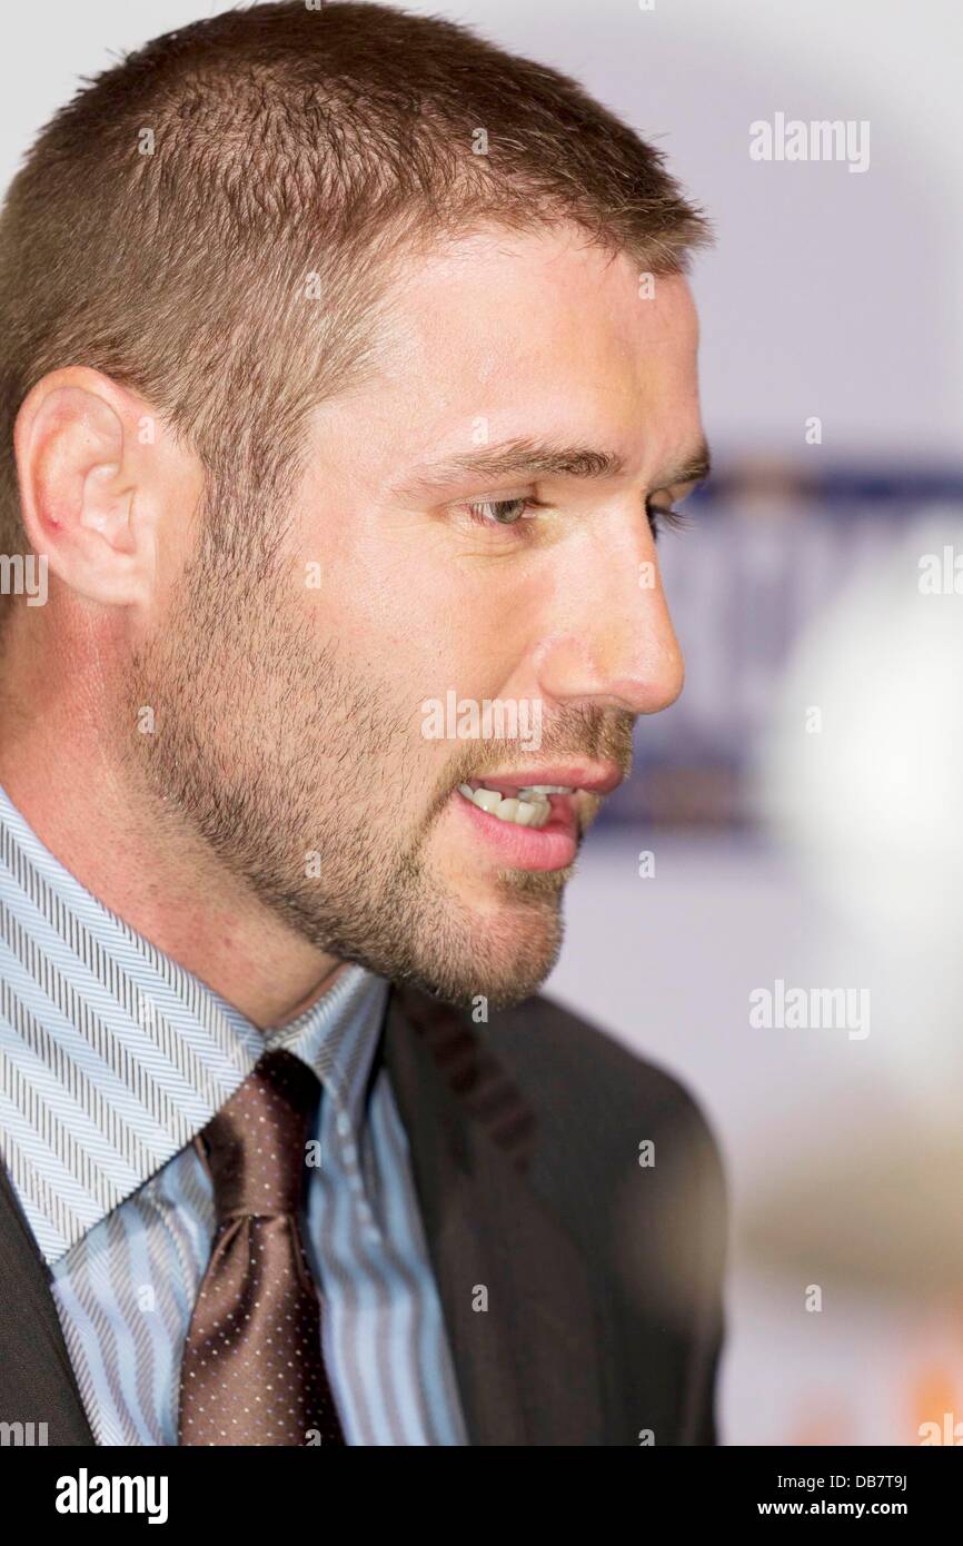
[[[462,1017],[411,988],[391,989],[385,1059],[470,1441],[603,1444],[595,1306],[526,1177],[533,1113]]]

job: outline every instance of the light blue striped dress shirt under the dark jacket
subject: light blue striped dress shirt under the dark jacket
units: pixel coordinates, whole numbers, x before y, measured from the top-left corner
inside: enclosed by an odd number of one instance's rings
[[[97,1444],[178,1442],[215,1228],[192,1139],[272,1047],[323,1087],[305,1248],[346,1442],[468,1442],[380,1061],[386,994],[351,965],[260,1031],[91,897],[0,788],[0,1155]]]

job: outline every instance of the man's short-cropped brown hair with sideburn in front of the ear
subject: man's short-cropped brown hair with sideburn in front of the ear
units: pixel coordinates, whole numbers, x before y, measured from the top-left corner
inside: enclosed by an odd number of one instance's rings
[[[306,413],[365,369],[394,252],[561,221],[657,274],[708,235],[658,150],[451,22],[289,0],[155,39],[54,116],[0,215],[0,550],[25,541],[12,427],[48,371],[134,388],[212,509],[243,487],[266,510]],[[218,541],[241,561],[255,536]]]

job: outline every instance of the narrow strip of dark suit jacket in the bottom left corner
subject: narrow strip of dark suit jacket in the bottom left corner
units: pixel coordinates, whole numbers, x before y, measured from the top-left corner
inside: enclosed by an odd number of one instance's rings
[[[46,1266],[0,1164],[0,1421],[46,1424],[46,1444],[93,1444]]]

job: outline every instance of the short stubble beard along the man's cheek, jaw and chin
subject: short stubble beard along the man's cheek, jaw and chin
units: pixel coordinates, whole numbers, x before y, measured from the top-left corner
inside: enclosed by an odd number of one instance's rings
[[[318,643],[291,584],[277,570],[227,583],[202,553],[136,652],[125,724],[153,710],[131,754],[164,821],[318,951],[461,1006],[521,1002],[558,957],[570,867],[504,872],[484,920],[431,873],[454,779],[405,826],[407,792],[424,788],[405,754],[416,713]]]

